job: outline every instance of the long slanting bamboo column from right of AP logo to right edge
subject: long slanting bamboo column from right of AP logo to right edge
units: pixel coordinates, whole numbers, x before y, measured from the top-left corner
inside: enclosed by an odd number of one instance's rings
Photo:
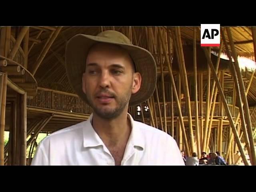
[[[246,98],[244,82],[243,82],[241,70],[239,68],[238,58],[237,58],[237,54],[236,54],[232,34],[231,34],[231,31],[230,31],[229,27],[227,27],[227,34],[228,34],[228,38],[230,40],[230,47],[231,47],[232,55],[233,55],[233,58],[234,58],[234,61],[235,61],[234,66],[235,66],[236,73],[238,75],[238,82],[239,82],[239,85],[240,85],[240,88],[241,88],[242,100],[244,102],[244,113],[245,113],[245,120],[246,120],[246,124],[247,124],[247,129],[248,129],[248,137],[249,137],[249,141],[250,141],[250,146],[252,146],[250,148],[251,154],[252,154],[252,165],[256,165],[256,153],[255,153],[255,148],[253,147],[254,146],[254,139],[253,139],[253,135],[252,135],[252,122],[251,122],[251,118],[250,118],[250,111],[249,111],[248,101],[247,101],[247,98]]]

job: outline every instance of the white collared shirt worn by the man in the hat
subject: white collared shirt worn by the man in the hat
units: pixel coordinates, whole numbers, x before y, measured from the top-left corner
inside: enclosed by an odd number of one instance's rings
[[[121,165],[184,165],[176,141],[165,132],[134,121]],[[114,158],[87,121],[58,130],[40,142],[31,165],[115,165]]]

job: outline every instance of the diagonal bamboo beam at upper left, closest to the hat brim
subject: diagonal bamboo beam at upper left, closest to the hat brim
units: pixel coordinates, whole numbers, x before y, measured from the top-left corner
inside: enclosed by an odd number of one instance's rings
[[[36,63],[34,64],[34,69],[32,70],[32,74],[35,75],[36,71],[38,69],[38,67],[40,66],[40,64],[42,63],[44,57],[46,56],[48,50],[50,49],[50,47],[52,46],[54,40],[56,39],[56,37],[58,36],[58,34],[60,33],[60,30],[62,29],[62,27],[57,27],[57,29],[54,31],[54,34],[52,35],[52,37],[50,38],[48,44],[46,45],[46,47],[44,48],[44,50],[42,51],[42,54],[40,55],[40,57],[38,58],[38,60],[36,60]]]

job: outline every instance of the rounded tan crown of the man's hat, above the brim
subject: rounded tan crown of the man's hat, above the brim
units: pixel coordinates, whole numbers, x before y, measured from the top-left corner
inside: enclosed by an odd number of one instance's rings
[[[130,41],[130,39],[118,31],[106,30],[99,33],[97,36],[108,38],[108,40],[112,42],[132,45],[132,42]]]

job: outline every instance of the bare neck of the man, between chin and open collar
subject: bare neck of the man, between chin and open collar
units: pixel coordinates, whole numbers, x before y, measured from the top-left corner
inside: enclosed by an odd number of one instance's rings
[[[130,136],[131,124],[126,110],[114,119],[104,119],[93,114],[92,124],[106,146],[114,147],[124,142],[127,143]]]

